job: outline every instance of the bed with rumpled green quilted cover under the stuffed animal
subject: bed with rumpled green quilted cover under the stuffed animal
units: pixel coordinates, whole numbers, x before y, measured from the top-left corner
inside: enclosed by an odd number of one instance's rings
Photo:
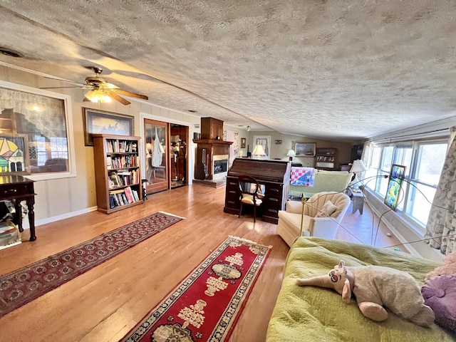
[[[380,265],[407,271],[419,286],[423,285],[425,274],[440,266],[435,261],[391,249],[300,237],[286,259],[266,342],[456,341],[435,323],[423,328],[391,313],[386,321],[371,321],[361,314],[356,299],[344,304],[332,289],[296,285],[297,278],[328,274],[340,260],[347,266]]]

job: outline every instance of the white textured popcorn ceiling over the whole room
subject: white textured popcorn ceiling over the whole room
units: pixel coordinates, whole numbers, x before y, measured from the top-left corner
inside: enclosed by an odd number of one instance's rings
[[[453,0],[0,0],[1,62],[331,140],[455,116],[455,42]]]

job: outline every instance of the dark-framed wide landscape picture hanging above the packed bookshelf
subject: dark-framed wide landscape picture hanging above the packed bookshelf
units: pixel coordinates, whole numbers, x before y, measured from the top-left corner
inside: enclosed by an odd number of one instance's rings
[[[93,146],[93,134],[133,135],[133,116],[83,108],[84,142]]]

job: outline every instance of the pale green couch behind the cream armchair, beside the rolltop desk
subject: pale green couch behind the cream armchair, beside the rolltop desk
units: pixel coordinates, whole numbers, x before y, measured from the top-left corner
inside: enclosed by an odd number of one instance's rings
[[[294,172],[296,167],[292,167],[291,169],[291,172]],[[294,182],[291,182],[289,186],[289,195],[294,197],[309,198],[317,192],[342,192],[346,189],[348,183],[351,182],[353,173],[347,171],[315,170],[313,176],[313,186],[295,185]]]

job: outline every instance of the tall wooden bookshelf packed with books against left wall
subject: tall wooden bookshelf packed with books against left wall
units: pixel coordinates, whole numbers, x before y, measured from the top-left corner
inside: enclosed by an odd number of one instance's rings
[[[140,138],[94,134],[98,211],[105,214],[142,204]]]

